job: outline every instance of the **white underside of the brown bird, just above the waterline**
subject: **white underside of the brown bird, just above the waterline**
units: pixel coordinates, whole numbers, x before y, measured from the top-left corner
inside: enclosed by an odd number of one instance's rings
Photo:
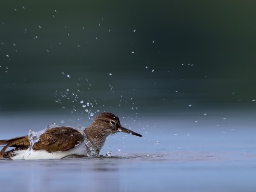
[[[11,157],[11,159],[61,159],[67,155],[87,155],[86,147],[84,143],[72,148],[65,152],[53,152],[49,153],[45,150],[30,151],[22,150],[14,152],[16,155]]]

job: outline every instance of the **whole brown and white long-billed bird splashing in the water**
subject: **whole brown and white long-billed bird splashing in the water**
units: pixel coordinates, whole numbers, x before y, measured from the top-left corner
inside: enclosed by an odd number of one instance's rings
[[[0,140],[0,145],[4,146],[0,158],[61,159],[73,155],[98,157],[106,137],[118,132],[142,137],[123,127],[116,115],[104,112],[98,114],[92,124],[81,132],[71,126],[57,126],[47,129],[38,138],[29,134]],[[6,152],[8,147],[14,148]]]

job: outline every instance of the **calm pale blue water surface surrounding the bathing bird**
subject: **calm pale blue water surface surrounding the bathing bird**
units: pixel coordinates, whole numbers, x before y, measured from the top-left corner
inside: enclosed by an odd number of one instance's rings
[[[58,115],[33,114],[2,114],[2,125],[12,131],[2,132],[1,139],[25,135],[31,125],[36,131],[45,122],[55,119],[59,124],[63,119]],[[99,158],[0,160],[1,189],[254,191],[254,116],[251,111],[209,110],[207,115],[197,111],[144,116],[136,121],[120,118],[123,126],[131,125],[143,138],[121,132],[110,136]]]

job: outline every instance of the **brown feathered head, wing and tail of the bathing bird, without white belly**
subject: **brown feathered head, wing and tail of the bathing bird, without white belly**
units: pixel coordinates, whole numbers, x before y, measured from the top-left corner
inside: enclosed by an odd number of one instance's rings
[[[117,116],[112,113],[101,113],[95,117],[92,124],[84,130],[91,147],[97,155],[104,145],[106,137],[117,132],[129,133],[142,137],[140,134],[121,126]],[[34,143],[33,151],[45,150],[49,153],[69,151],[84,141],[84,136],[69,126],[54,127],[40,135],[38,142]],[[28,136],[16,137],[9,140],[0,140],[0,145],[5,145],[0,152],[0,158],[15,155],[15,151],[27,150],[30,146]],[[8,147],[15,147],[5,152]],[[89,147],[87,147],[87,151]],[[87,155],[87,154],[84,154]]]

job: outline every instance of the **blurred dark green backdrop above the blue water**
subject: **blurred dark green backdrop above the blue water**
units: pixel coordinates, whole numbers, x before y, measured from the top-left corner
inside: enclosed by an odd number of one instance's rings
[[[254,106],[255,10],[255,1],[1,1],[0,109]]]

